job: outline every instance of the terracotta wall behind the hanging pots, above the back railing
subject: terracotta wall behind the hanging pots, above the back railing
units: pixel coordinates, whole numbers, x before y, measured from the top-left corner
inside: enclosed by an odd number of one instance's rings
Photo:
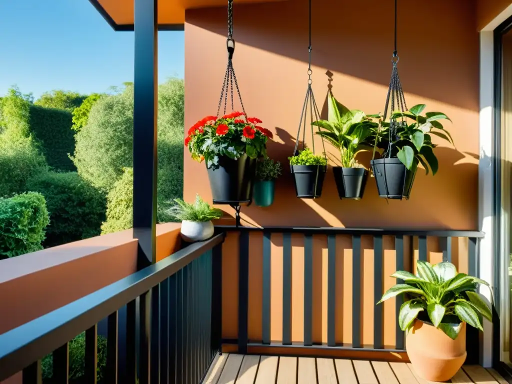
[[[408,0],[399,7],[399,74],[409,106],[442,111],[457,148],[437,148],[435,176],[419,170],[409,201],[379,199],[373,179],[362,201],[340,201],[332,173],[315,201],[295,197],[287,157],[307,87],[307,0],[234,7],[234,68],[246,111],[274,133],[283,162],[273,206],[242,209],[259,225],[475,229],[478,207],[479,46],[472,0]],[[414,17],[412,15],[418,15]],[[313,2],[313,90],[322,108],[327,76],[351,109],[383,111],[391,75],[393,2]],[[185,125],[215,114],[226,66],[226,9],[189,10],[185,25]],[[368,156],[361,158],[369,164]],[[211,199],[204,164],[184,159],[185,199]],[[232,214],[227,207],[226,211]]]

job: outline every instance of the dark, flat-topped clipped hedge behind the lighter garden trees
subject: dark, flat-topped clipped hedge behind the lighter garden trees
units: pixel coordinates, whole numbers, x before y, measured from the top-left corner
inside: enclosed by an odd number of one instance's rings
[[[68,154],[75,150],[71,112],[30,106],[30,130],[40,143],[48,165],[55,170],[76,170]]]

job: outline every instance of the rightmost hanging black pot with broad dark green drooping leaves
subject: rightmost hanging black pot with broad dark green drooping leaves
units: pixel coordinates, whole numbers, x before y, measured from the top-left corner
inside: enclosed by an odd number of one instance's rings
[[[436,174],[438,162],[433,149],[437,145],[432,143],[432,135],[453,144],[450,133],[439,122],[450,118],[442,112],[427,112],[423,116],[424,109],[425,104],[418,104],[409,111],[394,112],[389,123],[380,122],[383,130],[376,146],[382,157],[371,161],[380,197],[409,199],[420,163],[426,174],[429,168],[432,175]],[[408,119],[413,122],[408,124]]]

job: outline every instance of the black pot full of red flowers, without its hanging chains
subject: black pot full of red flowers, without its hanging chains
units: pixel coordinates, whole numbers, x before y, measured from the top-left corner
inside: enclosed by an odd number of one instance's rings
[[[220,118],[206,116],[188,130],[185,146],[192,158],[206,163],[214,204],[248,205],[256,162],[266,156],[272,133],[262,121],[233,112]]]

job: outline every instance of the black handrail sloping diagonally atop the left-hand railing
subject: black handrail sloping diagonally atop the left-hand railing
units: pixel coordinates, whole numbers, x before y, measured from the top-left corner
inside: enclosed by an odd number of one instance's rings
[[[23,370],[224,241],[221,233],[0,335],[0,381]]]

